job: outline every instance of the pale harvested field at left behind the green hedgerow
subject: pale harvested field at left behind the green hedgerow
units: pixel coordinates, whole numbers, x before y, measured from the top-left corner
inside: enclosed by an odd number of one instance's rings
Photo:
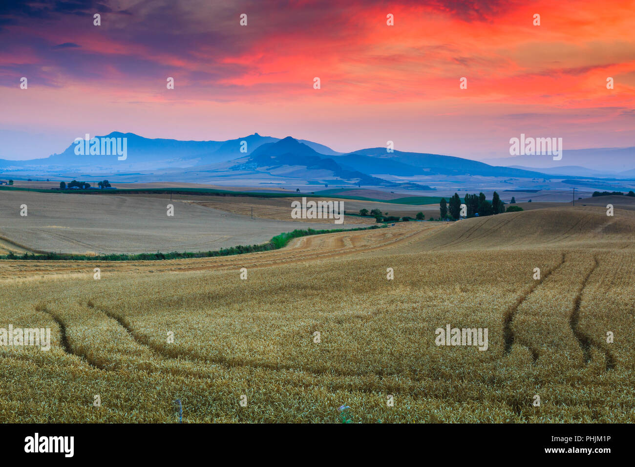
[[[168,204],[174,206],[173,217],[167,215]],[[20,215],[22,205],[27,205],[26,217]],[[137,196],[25,191],[4,191],[0,196],[0,238],[32,251],[103,254],[220,250],[264,243],[279,233],[307,225],[294,222],[290,215],[288,219],[250,219],[194,203]],[[323,221],[312,222],[311,227],[336,229],[345,228],[345,224]]]

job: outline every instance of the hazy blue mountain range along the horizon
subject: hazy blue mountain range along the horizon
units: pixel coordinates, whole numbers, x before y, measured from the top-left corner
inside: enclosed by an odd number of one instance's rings
[[[419,152],[387,152],[371,147],[353,152],[337,152],[328,146],[293,137],[279,139],[258,133],[226,141],[181,141],[149,139],[135,133],[112,132],[107,138],[126,138],[127,158],[117,154],[77,155],[72,143],[61,154],[28,161],[0,159],[0,170],[30,177],[48,173],[126,175],[128,180],[183,182],[215,179],[254,180],[255,183],[338,184],[341,186],[382,186],[431,190],[427,180],[450,177],[501,177],[528,179],[529,184],[549,179],[594,177],[606,172],[582,166],[545,166],[545,172],[530,166],[496,166],[471,159]],[[102,138],[102,137],[98,137]],[[242,149],[242,152],[241,152]],[[612,149],[613,154],[629,154],[632,148]],[[589,150],[592,151],[592,150]],[[573,154],[572,151],[568,154]],[[576,152],[583,154],[584,151]],[[565,155],[567,153],[565,152]],[[584,153],[586,154],[586,153]],[[586,156],[592,157],[589,153]],[[585,156],[585,157],[586,157]],[[596,154],[597,156],[597,154]],[[621,157],[621,156],[620,156]],[[632,157],[632,156],[631,156]],[[505,159],[507,162],[517,158]],[[633,162],[635,163],[635,162]],[[547,173],[548,172],[548,173]],[[629,172],[634,172],[629,170]],[[628,172],[624,172],[628,173]],[[635,173],[634,173],[635,175]],[[87,175],[88,176],[88,175]],[[436,177],[436,178],[435,178]],[[455,183],[455,182],[453,182]],[[458,182],[457,182],[458,183]],[[505,181],[505,183],[507,183]],[[525,183],[526,185],[526,183]],[[521,186],[523,186],[521,184]]]

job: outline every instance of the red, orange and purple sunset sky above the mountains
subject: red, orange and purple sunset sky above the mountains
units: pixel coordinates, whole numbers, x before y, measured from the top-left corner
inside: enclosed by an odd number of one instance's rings
[[[3,0],[0,158],[112,131],[482,160],[521,133],[635,146],[634,31],[635,0]]]

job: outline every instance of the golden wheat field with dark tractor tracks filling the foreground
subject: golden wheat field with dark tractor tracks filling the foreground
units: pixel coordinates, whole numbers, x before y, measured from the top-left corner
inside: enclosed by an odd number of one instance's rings
[[[184,423],[333,423],[340,405],[365,423],[632,422],[634,233],[632,210],[576,206],[232,257],[0,261],[0,327],[52,334],[0,348],[0,421],[173,423],[179,399]],[[437,346],[446,325],[488,328],[488,349]]]

